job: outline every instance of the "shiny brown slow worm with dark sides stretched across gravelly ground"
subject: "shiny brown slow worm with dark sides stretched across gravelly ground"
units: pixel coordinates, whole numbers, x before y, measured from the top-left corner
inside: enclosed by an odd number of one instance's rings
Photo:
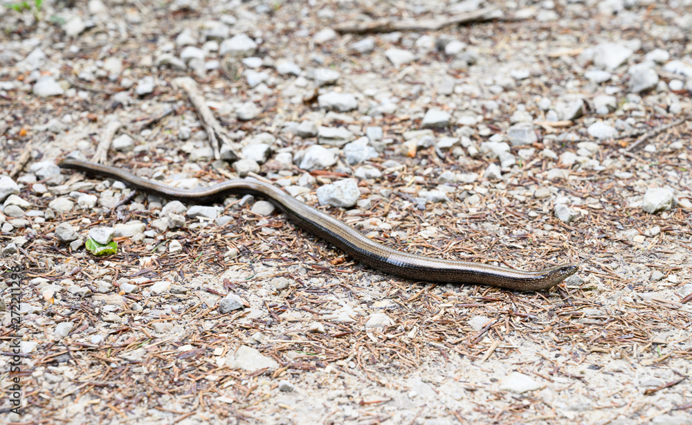
[[[299,226],[334,244],[341,251],[367,264],[402,278],[425,282],[488,284],[518,291],[548,289],[576,273],[576,264],[561,264],[552,269],[521,271],[475,262],[443,260],[398,251],[373,242],[354,228],[286,195],[282,190],[257,180],[229,180],[201,190],[183,190],[136,177],[118,168],[77,159],[65,159],[61,168],[116,179],[123,183],[167,199],[207,202],[229,195],[251,194],[269,199]]]

